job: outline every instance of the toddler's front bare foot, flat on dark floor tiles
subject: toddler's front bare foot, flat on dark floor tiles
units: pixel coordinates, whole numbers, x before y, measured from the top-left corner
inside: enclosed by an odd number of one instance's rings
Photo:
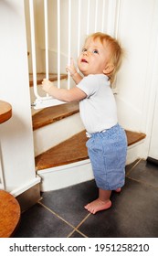
[[[101,201],[100,198],[92,201],[90,204],[85,206],[90,213],[95,214],[97,211],[104,210],[107,208],[111,208],[111,200]]]

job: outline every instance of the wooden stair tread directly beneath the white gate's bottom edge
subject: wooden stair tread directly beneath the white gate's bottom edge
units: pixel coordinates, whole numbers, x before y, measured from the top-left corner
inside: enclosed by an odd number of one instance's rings
[[[53,107],[48,107],[33,115],[33,130],[37,130],[50,123],[55,123],[65,117],[79,112],[79,103],[71,102]]]

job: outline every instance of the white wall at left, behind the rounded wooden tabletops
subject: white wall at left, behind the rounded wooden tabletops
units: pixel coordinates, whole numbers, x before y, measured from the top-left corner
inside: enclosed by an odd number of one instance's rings
[[[2,165],[7,191],[25,189],[36,179],[29,96],[24,2],[0,1],[0,100],[13,108],[0,125]]]

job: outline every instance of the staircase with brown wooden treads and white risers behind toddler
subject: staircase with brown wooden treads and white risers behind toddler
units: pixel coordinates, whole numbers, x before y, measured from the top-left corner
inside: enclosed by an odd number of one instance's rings
[[[52,75],[50,80],[55,80],[55,77]],[[39,84],[42,79],[40,74]],[[63,75],[63,79],[67,79],[66,75]],[[68,187],[93,178],[86,148],[87,137],[79,117],[79,103],[33,112],[32,121],[36,171],[41,177],[41,191]],[[132,131],[126,131],[126,134],[127,164],[130,164],[138,158],[137,148],[142,144],[145,134]]]

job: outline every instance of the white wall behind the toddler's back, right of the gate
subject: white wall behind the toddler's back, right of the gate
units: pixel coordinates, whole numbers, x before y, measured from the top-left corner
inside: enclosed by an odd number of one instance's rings
[[[157,0],[121,0],[118,37],[126,56],[117,81],[119,119],[125,128],[147,134],[139,153],[144,158],[151,143],[158,86],[157,14]]]

